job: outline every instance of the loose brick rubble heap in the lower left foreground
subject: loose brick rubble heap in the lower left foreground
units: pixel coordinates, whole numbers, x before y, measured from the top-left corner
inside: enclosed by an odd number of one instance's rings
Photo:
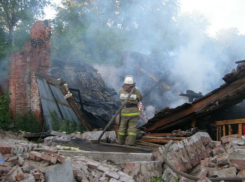
[[[11,132],[1,132],[0,137],[0,181],[135,181],[108,161],[82,155],[65,157],[55,147],[33,144]]]

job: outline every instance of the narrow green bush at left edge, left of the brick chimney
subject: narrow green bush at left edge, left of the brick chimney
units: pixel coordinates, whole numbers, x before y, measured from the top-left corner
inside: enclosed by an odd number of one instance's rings
[[[11,93],[2,92],[0,93],[0,128],[7,129],[10,121],[10,109],[9,104],[11,102]]]

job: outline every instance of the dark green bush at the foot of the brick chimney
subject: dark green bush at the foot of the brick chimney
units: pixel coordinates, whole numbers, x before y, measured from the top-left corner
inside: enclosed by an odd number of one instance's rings
[[[42,132],[37,116],[30,110],[16,115],[15,129],[31,133]]]

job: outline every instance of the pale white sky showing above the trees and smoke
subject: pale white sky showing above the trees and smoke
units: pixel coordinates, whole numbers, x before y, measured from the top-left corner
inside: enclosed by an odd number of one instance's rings
[[[61,0],[52,2],[60,4]],[[245,0],[179,0],[181,14],[199,12],[209,21],[207,33],[215,37],[215,33],[221,29],[235,27],[240,34],[245,35]],[[45,19],[53,19],[55,10],[46,8]]]

